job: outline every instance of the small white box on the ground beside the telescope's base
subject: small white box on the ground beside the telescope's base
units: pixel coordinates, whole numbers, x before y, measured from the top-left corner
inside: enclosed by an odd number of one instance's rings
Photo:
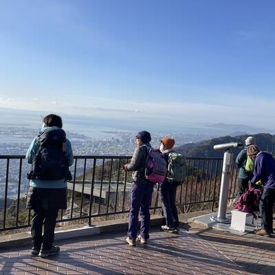
[[[231,229],[245,232],[245,224],[256,226],[253,215],[239,210],[232,210]]]

